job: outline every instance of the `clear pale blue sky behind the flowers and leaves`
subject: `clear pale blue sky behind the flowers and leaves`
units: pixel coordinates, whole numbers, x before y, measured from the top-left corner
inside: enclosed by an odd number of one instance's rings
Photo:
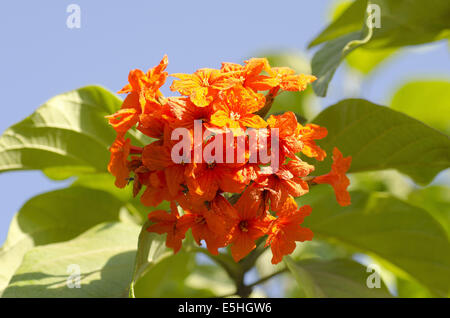
[[[264,51],[306,52],[325,27],[333,0],[321,1],[9,1],[0,11],[0,132],[52,96],[88,84],[120,89],[132,68],[169,56],[169,73],[242,62]],[[66,8],[81,7],[81,28],[68,29]],[[307,52],[311,56],[312,52]],[[449,78],[445,43],[401,53],[362,86],[385,103],[408,79]],[[351,75],[341,67],[321,99],[344,98]],[[0,174],[0,243],[12,216],[31,196],[63,187],[40,172]]]

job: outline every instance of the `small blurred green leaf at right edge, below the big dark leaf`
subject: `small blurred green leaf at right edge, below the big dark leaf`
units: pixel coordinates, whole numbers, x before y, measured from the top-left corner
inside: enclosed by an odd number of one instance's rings
[[[417,189],[409,194],[408,202],[430,212],[450,238],[450,187],[436,185]]]

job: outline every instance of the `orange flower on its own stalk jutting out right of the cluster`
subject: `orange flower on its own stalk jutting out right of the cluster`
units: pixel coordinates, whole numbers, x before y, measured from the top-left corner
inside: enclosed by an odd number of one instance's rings
[[[330,184],[336,195],[336,200],[341,206],[347,206],[350,204],[350,194],[347,191],[350,185],[350,180],[345,173],[350,168],[352,157],[345,157],[342,153],[334,147],[333,149],[333,164],[331,165],[331,171],[323,176],[314,178],[314,183],[328,183]]]

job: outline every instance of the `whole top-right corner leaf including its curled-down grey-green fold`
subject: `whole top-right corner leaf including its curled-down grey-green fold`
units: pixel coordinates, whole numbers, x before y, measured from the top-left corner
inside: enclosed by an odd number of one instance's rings
[[[379,8],[379,27],[367,23],[368,4]],[[448,38],[449,12],[447,0],[356,0],[310,43],[311,47],[327,42],[312,59],[313,74],[319,78],[313,84],[314,91],[318,96],[326,95],[337,67],[357,47],[393,49]],[[372,62],[376,65],[390,53],[386,50],[371,54]],[[367,65],[362,68],[371,69]]]

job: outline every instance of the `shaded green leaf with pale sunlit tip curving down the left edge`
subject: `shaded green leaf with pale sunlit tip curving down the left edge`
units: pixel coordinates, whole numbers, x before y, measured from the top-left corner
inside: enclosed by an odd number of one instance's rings
[[[30,199],[14,216],[0,249],[0,293],[33,246],[70,240],[94,225],[118,220],[121,206],[106,192],[81,187]]]

